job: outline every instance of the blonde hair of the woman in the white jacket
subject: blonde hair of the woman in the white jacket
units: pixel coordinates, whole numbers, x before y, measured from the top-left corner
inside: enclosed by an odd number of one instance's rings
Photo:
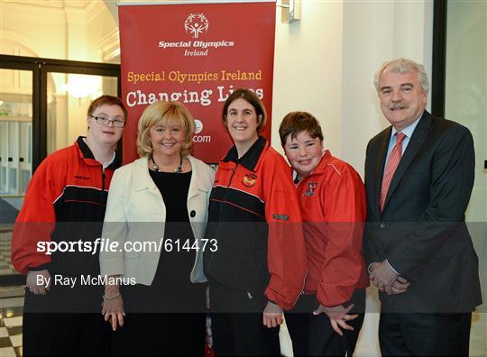
[[[193,153],[193,135],[195,133],[195,120],[186,106],[178,102],[155,102],[145,108],[139,119],[137,130],[137,153],[140,157],[152,153],[152,143],[149,138],[151,128],[156,125],[167,127],[176,125],[186,131],[184,142],[181,146],[182,158]]]

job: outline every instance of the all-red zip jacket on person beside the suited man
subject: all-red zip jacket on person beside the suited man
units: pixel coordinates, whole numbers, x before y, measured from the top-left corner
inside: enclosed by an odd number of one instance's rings
[[[335,307],[369,286],[363,260],[366,215],[362,178],[325,151],[317,168],[296,184],[308,252],[305,293]]]

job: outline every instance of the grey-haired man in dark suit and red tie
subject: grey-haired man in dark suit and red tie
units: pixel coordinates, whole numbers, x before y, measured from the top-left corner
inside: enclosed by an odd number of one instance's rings
[[[380,290],[382,355],[468,355],[482,304],[464,224],[473,188],[472,134],[426,111],[428,81],[409,59],[375,75],[391,126],[367,146],[364,253]]]

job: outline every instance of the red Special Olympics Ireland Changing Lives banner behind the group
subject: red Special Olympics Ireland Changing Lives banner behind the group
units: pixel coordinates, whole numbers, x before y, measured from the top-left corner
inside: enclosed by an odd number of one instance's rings
[[[274,1],[120,4],[122,97],[129,112],[124,163],[137,158],[137,122],[158,100],[179,101],[194,115],[195,156],[218,162],[232,145],[222,107],[234,89],[262,99],[271,137]]]

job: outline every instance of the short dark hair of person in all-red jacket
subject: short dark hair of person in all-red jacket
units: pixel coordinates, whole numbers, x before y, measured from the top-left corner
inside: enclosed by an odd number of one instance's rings
[[[279,126],[280,144],[286,145],[288,136],[295,139],[301,132],[308,132],[313,139],[319,138],[323,142],[323,132],[317,118],[308,112],[291,112],[286,114]]]

